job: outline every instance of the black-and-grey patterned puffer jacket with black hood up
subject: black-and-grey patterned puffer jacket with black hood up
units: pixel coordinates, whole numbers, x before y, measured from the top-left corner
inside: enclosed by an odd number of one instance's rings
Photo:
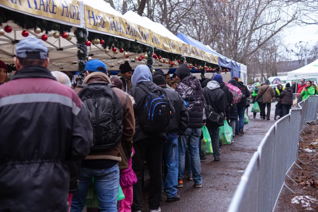
[[[201,128],[203,126],[203,108],[205,104],[203,89],[200,81],[192,75],[186,64],[180,65],[176,70],[176,75],[180,82],[176,87],[176,92],[188,104],[189,126],[191,128]]]

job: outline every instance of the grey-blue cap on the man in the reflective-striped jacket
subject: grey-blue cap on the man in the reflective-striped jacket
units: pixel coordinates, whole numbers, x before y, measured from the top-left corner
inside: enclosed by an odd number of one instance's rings
[[[45,60],[48,56],[47,48],[40,39],[26,38],[16,47],[16,56],[19,58]]]

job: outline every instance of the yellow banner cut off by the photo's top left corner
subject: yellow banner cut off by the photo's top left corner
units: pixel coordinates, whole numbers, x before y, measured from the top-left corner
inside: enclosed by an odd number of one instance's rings
[[[31,15],[80,25],[79,1],[76,0],[1,0],[0,4]]]

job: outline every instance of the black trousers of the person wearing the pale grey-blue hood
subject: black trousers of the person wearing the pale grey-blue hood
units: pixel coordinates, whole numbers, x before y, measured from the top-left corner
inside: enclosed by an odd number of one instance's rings
[[[136,173],[137,183],[133,185],[132,211],[142,210],[142,173],[146,159],[149,169],[149,195],[150,209],[160,207],[162,192],[162,143],[158,137],[147,138],[134,143],[135,155],[132,157],[132,169]]]

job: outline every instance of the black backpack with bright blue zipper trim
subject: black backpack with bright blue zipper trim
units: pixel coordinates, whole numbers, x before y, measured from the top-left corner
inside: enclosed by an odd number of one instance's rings
[[[166,132],[170,123],[170,102],[161,89],[150,89],[139,84],[147,96],[139,107],[139,126],[149,132]]]

